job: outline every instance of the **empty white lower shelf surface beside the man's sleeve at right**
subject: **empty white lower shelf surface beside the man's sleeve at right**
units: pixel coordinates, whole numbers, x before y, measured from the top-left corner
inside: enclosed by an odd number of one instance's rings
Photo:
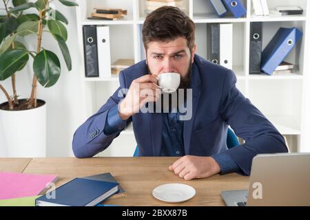
[[[300,135],[296,119],[291,115],[266,115],[282,135]]]

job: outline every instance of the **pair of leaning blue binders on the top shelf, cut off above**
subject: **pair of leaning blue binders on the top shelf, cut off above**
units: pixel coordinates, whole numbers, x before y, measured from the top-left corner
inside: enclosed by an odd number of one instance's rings
[[[240,18],[247,14],[247,10],[240,0],[209,0],[212,8],[218,17],[223,17],[231,12],[235,18]]]

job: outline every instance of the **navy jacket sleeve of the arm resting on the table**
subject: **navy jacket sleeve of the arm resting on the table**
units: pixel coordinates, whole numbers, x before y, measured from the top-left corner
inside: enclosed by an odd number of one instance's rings
[[[257,154],[287,152],[276,127],[236,88],[236,76],[231,70],[227,71],[223,85],[220,115],[245,140],[245,144],[223,152],[234,159],[242,175],[250,175],[252,159]]]

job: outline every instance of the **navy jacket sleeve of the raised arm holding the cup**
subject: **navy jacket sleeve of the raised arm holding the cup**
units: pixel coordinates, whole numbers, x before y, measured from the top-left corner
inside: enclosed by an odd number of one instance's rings
[[[88,118],[78,129],[76,129],[73,140],[72,150],[76,157],[92,157],[97,153],[105,150],[115,137],[121,133],[125,128],[119,129],[116,133],[105,133],[105,122],[107,121],[107,114],[112,108],[116,108],[118,103],[125,98],[125,78],[123,72],[119,74],[120,87],[116,89],[114,94],[107,100],[105,104],[94,115]],[[129,118],[126,121],[128,125],[132,121]]]

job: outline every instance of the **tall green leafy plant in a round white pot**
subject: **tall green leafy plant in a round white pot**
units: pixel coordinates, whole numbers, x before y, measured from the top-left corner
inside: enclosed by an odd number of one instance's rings
[[[43,32],[52,34],[60,47],[68,71],[72,61],[66,41],[68,20],[59,10],[53,9],[54,0],[1,0],[0,10],[0,93],[7,102],[0,104],[6,154],[10,157],[44,157],[46,151],[46,104],[37,99],[38,82],[43,87],[52,87],[61,74],[59,58],[50,48],[43,48]],[[76,6],[72,1],[57,0],[65,6]],[[30,10],[28,10],[30,9]],[[35,11],[36,13],[28,13]],[[3,14],[4,12],[4,14]],[[21,40],[33,39],[37,50],[28,50]],[[32,37],[33,36],[33,37]],[[27,40],[27,42],[31,42]],[[15,74],[30,62],[33,67],[31,94],[19,99]],[[1,85],[2,80],[12,80],[12,95]],[[1,140],[0,140],[1,142]],[[3,145],[1,144],[1,145]]]

